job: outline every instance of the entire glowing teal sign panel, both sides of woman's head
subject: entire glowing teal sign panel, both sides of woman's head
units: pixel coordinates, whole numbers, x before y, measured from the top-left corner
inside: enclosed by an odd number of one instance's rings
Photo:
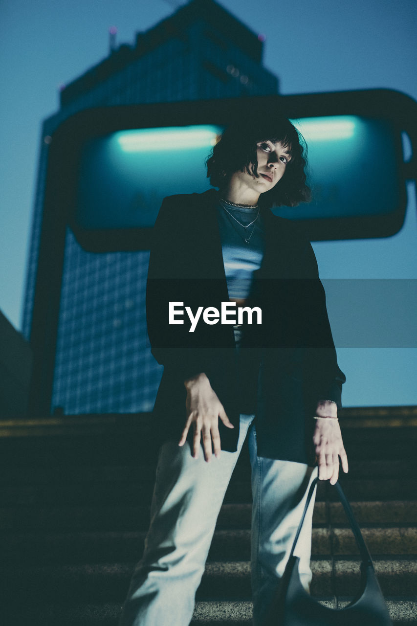
[[[274,213],[291,219],[388,214],[398,206],[398,163],[386,123],[357,116],[292,120],[308,145],[313,200]],[[209,188],[214,125],[118,131],[86,143],[76,222],[86,230],[152,227],[162,199]]]

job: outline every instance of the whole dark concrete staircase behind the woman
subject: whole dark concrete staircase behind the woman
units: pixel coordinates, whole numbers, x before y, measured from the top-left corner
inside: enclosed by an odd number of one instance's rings
[[[417,625],[417,408],[343,409],[342,481],[396,626]],[[148,525],[151,418],[0,422],[0,623],[116,626]],[[225,496],[193,626],[249,626],[249,458]],[[339,607],[359,589],[342,506],[319,484],[311,593]],[[158,625],[159,626],[159,625]],[[165,625],[161,625],[165,626]],[[166,625],[169,626],[169,625]]]

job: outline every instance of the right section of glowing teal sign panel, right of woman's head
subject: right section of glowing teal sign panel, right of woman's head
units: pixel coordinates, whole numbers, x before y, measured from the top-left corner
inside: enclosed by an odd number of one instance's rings
[[[291,219],[391,213],[399,203],[391,128],[378,120],[332,116],[291,120],[308,146],[308,205],[274,209]]]

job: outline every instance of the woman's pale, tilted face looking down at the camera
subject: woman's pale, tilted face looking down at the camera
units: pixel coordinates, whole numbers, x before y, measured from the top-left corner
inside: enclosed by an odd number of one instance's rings
[[[264,193],[275,187],[286,172],[287,164],[291,160],[289,148],[284,148],[281,141],[259,141],[257,143],[257,174],[254,178],[247,172],[235,172],[232,178],[242,185],[253,189],[257,193]]]

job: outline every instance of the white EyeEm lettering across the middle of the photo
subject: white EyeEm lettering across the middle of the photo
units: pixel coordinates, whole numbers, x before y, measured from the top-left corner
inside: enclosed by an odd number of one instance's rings
[[[169,323],[170,324],[183,324],[184,320],[179,319],[184,315],[184,303],[183,302],[170,302],[169,304]],[[203,314],[203,322],[205,324],[252,324],[253,314],[256,313],[256,324],[262,324],[262,310],[259,307],[236,307],[236,302],[222,302],[222,309],[215,307],[198,307],[195,315],[190,307],[185,307],[185,312],[190,319],[191,326],[188,332],[194,332],[197,327],[198,320]],[[236,317],[237,313],[237,317]],[[246,314],[246,320],[244,322],[244,313]]]

